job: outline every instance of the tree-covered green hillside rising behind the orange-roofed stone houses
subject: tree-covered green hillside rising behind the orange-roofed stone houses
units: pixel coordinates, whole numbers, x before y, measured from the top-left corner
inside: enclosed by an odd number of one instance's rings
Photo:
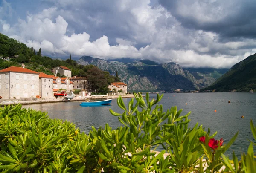
[[[56,66],[66,66],[72,70],[73,76],[84,76],[92,81],[98,92],[108,92],[108,85],[112,82],[119,81],[119,78],[112,76],[109,72],[105,72],[93,65],[79,65],[72,60],[71,55],[67,60],[52,59],[41,55],[41,48],[38,51],[27,47],[19,41],[9,38],[0,33],[0,69],[5,69],[10,66],[21,66],[36,72],[44,72],[47,75],[53,75],[51,70]],[[10,61],[6,58],[9,57]]]

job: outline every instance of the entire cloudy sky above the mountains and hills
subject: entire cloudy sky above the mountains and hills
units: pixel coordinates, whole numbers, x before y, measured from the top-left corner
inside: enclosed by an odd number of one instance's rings
[[[230,68],[256,53],[255,0],[0,0],[0,32],[43,55]]]

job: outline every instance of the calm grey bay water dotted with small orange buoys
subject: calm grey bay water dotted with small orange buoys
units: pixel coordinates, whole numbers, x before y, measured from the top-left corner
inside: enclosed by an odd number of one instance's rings
[[[150,94],[150,98],[156,98],[156,94]],[[131,98],[124,98],[125,105]],[[231,101],[229,104],[228,101]],[[187,103],[187,105],[186,105]],[[81,131],[88,133],[91,126],[96,128],[104,127],[108,123],[113,129],[120,126],[118,118],[111,115],[109,109],[122,113],[118,107],[116,99],[113,99],[110,106],[101,107],[81,107],[80,102],[68,103],[50,103],[50,104],[34,104],[24,105],[24,108],[33,108],[48,112],[50,118],[58,118],[73,122]],[[231,146],[227,154],[231,156],[232,150],[240,156],[240,152],[246,152],[249,146],[249,140],[253,140],[250,131],[250,119],[256,125],[256,94],[250,93],[169,93],[164,94],[160,104],[163,110],[167,110],[172,106],[177,109],[183,109],[181,115],[186,115],[189,111],[190,127],[197,122],[203,124],[206,131],[211,129],[211,134],[218,132],[215,139],[224,139],[229,141],[237,131],[239,136],[235,143]],[[217,112],[214,112],[214,110]],[[241,118],[241,116],[244,118]]]

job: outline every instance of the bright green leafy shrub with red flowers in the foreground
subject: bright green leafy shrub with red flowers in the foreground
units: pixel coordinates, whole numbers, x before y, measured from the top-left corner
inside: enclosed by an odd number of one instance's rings
[[[163,96],[163,95],[162,95]],[[196,124],[188,127],[187,115],[180,116],[177,107],[163,112],[157,100],[146,102],[142,95],[125,107],[122,98],[117,104],[124,111],[113,112],[123,126],[113,130],[108,124],[80,133],[67,121],[50,119],[47,113],[21,109],[21,105],[0,108],[0,171],[2,172],[132,172],[132,173],[213,173],[255,172],[253,144],[238,161],[230,161],[223,153],[236,135],[223,144],[210,131]],[[140,107],[140,109],[138,109]],[[256,128],[251,121],[256,138]],[[164,150],[156,154],[161,145]]]

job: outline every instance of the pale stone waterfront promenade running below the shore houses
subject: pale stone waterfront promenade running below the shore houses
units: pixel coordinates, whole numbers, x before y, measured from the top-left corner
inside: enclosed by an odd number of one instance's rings
[[[111,98],[118,98],[119,95],[91,95],[91,96],[78,96],[73,98],[71,101],[86,101],[88,99],[111,99]],[[133,94],[124,94],[121,95],[122,98],[131,98],[134,97]],[[49,98],[49,99],[37,99],[37,100],[0,100],[0,107],[3,107],[5,105],[9,105],[9,104],[22,104],[22,105],[26,105],[26,104],[41,104],[41,103],[55,103],[55,102],[63,102],[63,97],[59,97],[59,98]]]

